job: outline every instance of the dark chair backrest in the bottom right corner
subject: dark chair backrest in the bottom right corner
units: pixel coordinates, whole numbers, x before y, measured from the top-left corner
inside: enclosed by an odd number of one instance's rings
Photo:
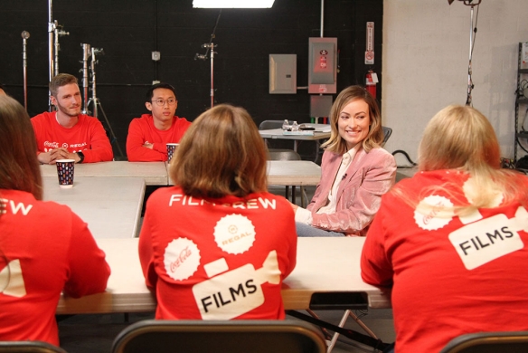
[[[528,331],[469,333],[451,339],[440,353],[528,352]]]

